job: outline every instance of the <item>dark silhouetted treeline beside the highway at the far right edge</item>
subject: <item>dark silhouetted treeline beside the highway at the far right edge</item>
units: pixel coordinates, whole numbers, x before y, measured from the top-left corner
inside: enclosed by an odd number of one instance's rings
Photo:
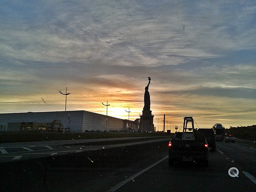
[[[237,138],[245,139],[245,140],[256,140],[256,125],[251,126],[242,126],[242,127],[231,127],[229,129],[225,129],[227,134],[234,135]]]

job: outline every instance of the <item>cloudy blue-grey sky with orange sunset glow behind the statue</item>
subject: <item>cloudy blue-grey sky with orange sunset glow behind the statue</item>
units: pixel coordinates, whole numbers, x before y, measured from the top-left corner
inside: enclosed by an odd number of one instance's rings
[[[0,2],[0,113],[256,124],[255,1]],[[168,124],[168,129],[172,124]]]

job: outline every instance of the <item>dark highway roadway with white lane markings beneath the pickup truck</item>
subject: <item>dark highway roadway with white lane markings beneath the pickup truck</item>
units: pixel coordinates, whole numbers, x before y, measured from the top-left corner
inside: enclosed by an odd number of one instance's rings
[[[167,144],[168,138],[113,148],[93,146],[99,150],[2,162],[0,190],[256,191],[253,143],[217,142],[217,150],[210,151],[207,168],[194,163],[169,166]],[[228,174],[232,167],[239,171],[238,177]]]

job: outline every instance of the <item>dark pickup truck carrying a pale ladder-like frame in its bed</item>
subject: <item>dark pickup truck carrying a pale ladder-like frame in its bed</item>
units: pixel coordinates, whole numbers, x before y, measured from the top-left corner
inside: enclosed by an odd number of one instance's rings
[[[192,125],[190,128],[188,123]],[[209,146],[204,134],[195,130],[192,117],[184,117],[183,131],[175,133],[168,149],[170,166],[174,162],[196,162],[208,166]]]

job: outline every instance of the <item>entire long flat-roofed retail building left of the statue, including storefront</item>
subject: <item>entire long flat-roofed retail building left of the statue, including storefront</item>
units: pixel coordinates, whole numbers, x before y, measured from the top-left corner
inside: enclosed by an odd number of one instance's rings
[[[66,121],[65,121],[66,119]],[[89,111],[54,111],[0,114],[0,131],[67,131],[139,130],[140,118],[135,121],[119,119]]]

